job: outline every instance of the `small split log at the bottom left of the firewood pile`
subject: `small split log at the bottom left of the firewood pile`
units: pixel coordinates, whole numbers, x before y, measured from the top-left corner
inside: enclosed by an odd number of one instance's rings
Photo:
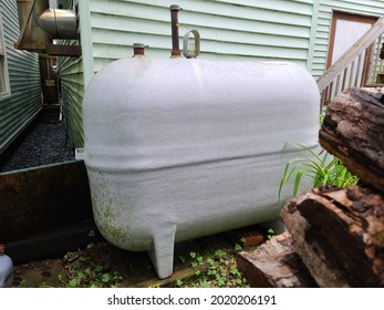
[[[272,237],[253,252],[241,251],[237,265],[253,288],[318,287],[294,252],[288,231]]]

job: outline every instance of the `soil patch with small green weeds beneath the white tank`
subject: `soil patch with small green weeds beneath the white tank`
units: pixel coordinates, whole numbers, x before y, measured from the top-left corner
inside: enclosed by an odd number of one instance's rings
[[[262,229],[252,227],[255,230]],[[175,245],[174,273],[167,279],[158,279],[147,252],[125,251],[105,240],[86,248],[70,251],[61,258],[31,261],[14,267],[14,288],[70,288],[70,287],[194,287],[237,286],[241,275],[235,275],[238,250],[253,250],[255,246],[240,246],[239,231],[250,228],[221,232]],[[194,255],[191,255],[194,254]],[[218,262],[215,256],[220,254]],[[219,261],[217,260],[217,261]],[[209,264],[208,264],[209,262]],[[207,277],[208,269],[227,269],[218,276]],[[216,271],[215,271],[216,272]],[[230,275],[232,272],[233,275]],[[240,279],[240,280],[238,280]]]

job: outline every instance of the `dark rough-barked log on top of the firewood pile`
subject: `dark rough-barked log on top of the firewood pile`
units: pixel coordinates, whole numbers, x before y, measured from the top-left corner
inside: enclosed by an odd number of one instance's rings
[[[364,183],[384,190],[384,104],[377,89],[349,89],[333,99],[320,144]]]

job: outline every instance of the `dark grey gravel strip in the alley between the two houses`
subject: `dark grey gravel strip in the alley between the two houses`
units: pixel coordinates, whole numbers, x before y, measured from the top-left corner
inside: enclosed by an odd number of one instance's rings
[[[0,173],[74,159],[64,124],[33,122],[0,158]]]

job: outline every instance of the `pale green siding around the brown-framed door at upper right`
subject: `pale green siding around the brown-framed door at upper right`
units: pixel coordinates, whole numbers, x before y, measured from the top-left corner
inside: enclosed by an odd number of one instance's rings
[[[311,65],[312,75],[314,78],[319,78],[325,71],[332,12],[338,10],[356,14],[381,17],[384,14],[383,4],[383,0],[320,0],[313,62]]]

